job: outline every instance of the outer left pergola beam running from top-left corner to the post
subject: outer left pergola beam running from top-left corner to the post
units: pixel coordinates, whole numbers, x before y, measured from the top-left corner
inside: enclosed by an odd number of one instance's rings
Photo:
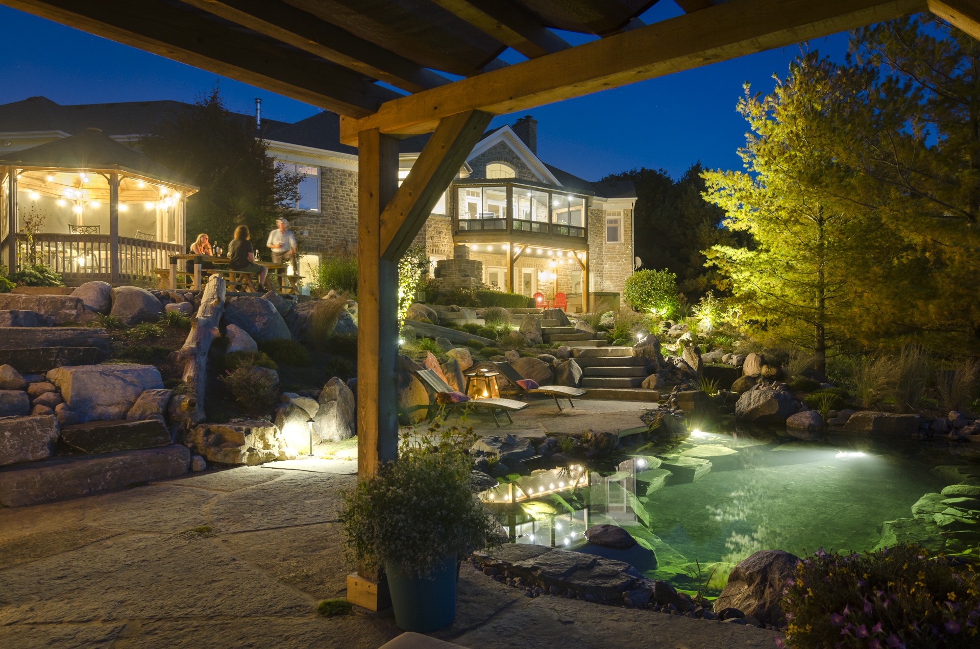
[[[343,66],[290,51],[255,34],[221,28],[163,0],[0,0],[195,68],[349,116],[367,116],[400,95]]]

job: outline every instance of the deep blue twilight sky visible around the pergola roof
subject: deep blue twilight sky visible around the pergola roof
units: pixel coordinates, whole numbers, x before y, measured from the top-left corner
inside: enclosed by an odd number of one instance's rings
[[[679,15],[660,2],[643,15],[653,23]],[[44,95],[59,104],[175,99],[192,102],[221,79],[221,92],[235,111],[296,122],[318,109],[267,90],[233,81],[22,12],[0,7],[4,56],[0,58],[0,104]],[[563,33],[578,44],[583,37]],[[809,47],[843,59],[847,34],[811,41]],[[741,169],[736,149],[746,123],[735,112],[742,84],[771,90],[773,73],[785,75],[799,46],[761,52],[676,75],[497,118],[513,123],[523,114],[538,120],[538,154],[556,167],[597,180],[633,167],[664,169],[677,177],[693,163]],[[503,57],[507,59],[507,57]]]

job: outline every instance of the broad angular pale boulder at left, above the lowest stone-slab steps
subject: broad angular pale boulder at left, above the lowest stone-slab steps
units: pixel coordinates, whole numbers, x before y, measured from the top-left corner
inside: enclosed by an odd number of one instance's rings
[[[152,365],[80,365],[56,368],[48,380],[61,389],[79,423],[122,420],[144,390],[163,389]]]

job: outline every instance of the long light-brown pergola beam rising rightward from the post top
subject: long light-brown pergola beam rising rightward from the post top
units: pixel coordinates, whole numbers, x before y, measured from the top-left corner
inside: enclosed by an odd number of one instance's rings
[[[926,0],[730,0],[483,75],[386,102],[343,118],[340,139],[362,130],[429,132],[443,117],[503,115],[690,70],[922,11]]]

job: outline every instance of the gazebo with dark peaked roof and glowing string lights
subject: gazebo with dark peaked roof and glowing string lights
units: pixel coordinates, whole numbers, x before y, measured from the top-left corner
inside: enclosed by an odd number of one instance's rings
[[[197,187],[99,128],[0,160],[0,250],[18,269],[44,263],[77,285],[152,278],[184,252]]]

